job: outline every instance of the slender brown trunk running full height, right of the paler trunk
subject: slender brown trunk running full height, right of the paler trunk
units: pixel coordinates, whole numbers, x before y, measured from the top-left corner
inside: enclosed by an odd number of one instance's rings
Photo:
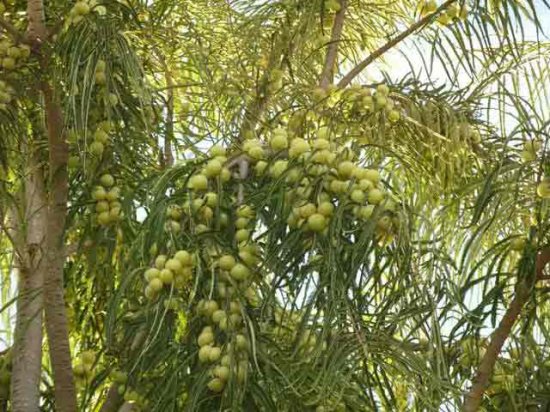
[[[55,405],[58,412],[77,410],[76,390],[69,345],[69,327],[63,298],[63,269],[65,265],[65,224],[67,219],[69,148],[63,132],[63,112],[56,90],[49,82],[49,56],[42,48],[46,39],[43,0],[28,0],[29,40],[42,52],[39,54],[43,78],[40,90],[44,95],[48,134],[49,174],[48,213],[44,244],[44,299],[46,332],[52,364]]]

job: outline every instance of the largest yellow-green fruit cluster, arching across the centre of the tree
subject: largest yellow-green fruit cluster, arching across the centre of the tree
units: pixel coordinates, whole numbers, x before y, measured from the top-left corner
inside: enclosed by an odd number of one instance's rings
[[[272,132],[269,149],[259,139],[252,138],[244,142],[243,151],[255,163],[258,176],[284,177],[292,186],[286,193],[286,200],[292,204],[287,217],[290,228],[326,233],[336,203],[348,206],[353,216],[361,220],[370,219],[376,207],[383,204],[388,213],[378,220],[381,236],[390,234],[399,224],[393,202],[385,200],[386,194],[379,187],[379,172],[353,162],[348,149],[338,149],[329,140],[326,127],[320,128],[309,141],[289,138],[285,129],[277,128]],[[278,160],[267,159],[268,155]],[[321,190],[315,190],[315,183]]]

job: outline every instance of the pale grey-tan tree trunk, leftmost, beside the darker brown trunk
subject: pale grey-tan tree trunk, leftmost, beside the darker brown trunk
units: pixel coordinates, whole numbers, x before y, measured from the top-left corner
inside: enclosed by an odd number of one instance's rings
[[[28,145],[30,147],[32,145]],[[44,174],[33,149],[27,153],[25,176],[26,239],[20,223],[13,226],[18,271],[17,317],[13,347],[11,408],[14,412],[39,410],[42,368],[43,245],[46,222]],[[14,222],[17,211],[12,209]],[[24,245],[24,246],[22,246]],[[22,248],[24,248],[22,250]],[[19,249],[17,251],[17,249]]]

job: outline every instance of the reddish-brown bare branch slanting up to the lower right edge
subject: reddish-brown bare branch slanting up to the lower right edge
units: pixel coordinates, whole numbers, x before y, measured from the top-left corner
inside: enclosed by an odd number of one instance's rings
[[[544,249],[537,255],[535,265],[536,280],[543,278],[543,272],[546,265],[550,262],[550,249]],[[500,320],[500,323],[491,336],[491,342],[487,347],[485,355],[481,359],[479,364],[474,383],[470,388],[470,391],[464,398],[463,410],[465,412],[476,412],[479,410],[483,394],[489,384],[489,379],[493,374],[495,363],[500,355],[500,351],[504,346],[504,342],[510,335],[510,332],[519,317],[523,306],[527,303],[527,300],[531,296],[532,288],[530,285],[525,285],[523,280],[519,281],[516,288],[516,293],[510,306],[506,310],[506,313]]]

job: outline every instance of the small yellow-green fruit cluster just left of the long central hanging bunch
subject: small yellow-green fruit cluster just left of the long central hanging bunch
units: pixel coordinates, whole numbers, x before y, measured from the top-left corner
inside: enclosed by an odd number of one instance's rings
[[[171,258],[166,255],[157,256],[154,266],[144,273],[147,282],[145,296],[156,300],[165,286],[184,288],[193,278],[194,267],[195,258],[187,250],[178,250]]]

